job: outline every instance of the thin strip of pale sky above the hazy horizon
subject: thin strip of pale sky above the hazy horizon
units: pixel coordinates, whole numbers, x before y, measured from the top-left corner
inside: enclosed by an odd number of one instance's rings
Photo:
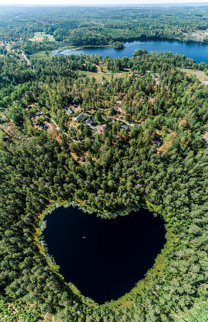
[[[197,0],[0,0],[1,5],[147,5],[147,4],[189,3],[190,5],[202,4]],[[208,5],[208,0],[203,2]]]

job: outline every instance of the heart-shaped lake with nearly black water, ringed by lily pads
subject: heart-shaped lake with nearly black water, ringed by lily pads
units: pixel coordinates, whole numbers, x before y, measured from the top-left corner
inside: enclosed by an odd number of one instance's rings
[[[59,272],[99,304],[129,292],[166,242],[163,222],[145,209],[101,219],[59,207],[45,219],[44,240]]]

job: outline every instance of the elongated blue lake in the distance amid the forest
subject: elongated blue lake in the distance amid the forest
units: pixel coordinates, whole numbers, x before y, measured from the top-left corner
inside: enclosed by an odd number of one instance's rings
[[[64,54],[69,55],[71,53],[82,53],[82,54],[97,54],[110,56],[111,58],[116,57],[132,57],[135,49],[146,49],[148,52],[172,52],[184,54],[187,57],[193,58],[197,63],[205,62],[208,63],[208,44],[207,43],[189,43],[177,40],[144,40],[134,41],[132,43],[125,43],[126,48],[105,48],[105,47],[86,47],[84,49],[72,51],[70,49],[58,49],[52,51],[51,55],[54,56]]]

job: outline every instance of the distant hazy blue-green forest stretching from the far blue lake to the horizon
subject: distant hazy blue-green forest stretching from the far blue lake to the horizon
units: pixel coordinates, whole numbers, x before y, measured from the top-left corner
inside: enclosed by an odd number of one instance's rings
[[[71,45],[169,38],[207,42],[207,6],[1,7],[0,40],[25,54]],[[42,32],[44,40],[32,39]],[[46,36],[53,35],[55,42]]]

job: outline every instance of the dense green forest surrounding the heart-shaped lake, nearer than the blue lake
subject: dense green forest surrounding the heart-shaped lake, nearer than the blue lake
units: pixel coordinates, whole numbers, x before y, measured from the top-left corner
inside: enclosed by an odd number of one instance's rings
[[[208,65],[137,50],[133,58],[104,59],[108,70],[129,68],[125,79],[97,83],[79,76],[101,59],[60,55],[27,66],[7,51],[0,56],[0,319],[35,322],[48,312],[64,322],[206,321],[208,152],[201,138],[208,88],[177,67],[206,73]],[[153,72],[161,76],[157,82]],[[134,121],[130,131],[113,119],[118,100],[126,120]],[[65,109],[70,104],[81,104],[98,122],[110,109],[107,128],[92,136],[83,118],[75,143]],[[53,116],[56,135],[35,128],[37,110],[43,112],[39,123]],[[78,161],[81,155],[85,162]],[[41,248],[45,212],[71,202],[106,218],[148,206],[165,220],[167,245],[156,265],[118,301],[99,306],[80,295]]]

